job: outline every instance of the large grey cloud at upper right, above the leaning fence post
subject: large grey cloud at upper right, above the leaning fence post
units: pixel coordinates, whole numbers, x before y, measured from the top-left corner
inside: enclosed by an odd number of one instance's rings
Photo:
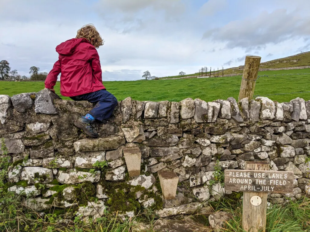
[[[241,47],[246,52],[261,50],[266,44],[278,44],[292,38],[310,35],[309,16],[277,9],[263,11],[255,18],[232,21],[221,28],[206,31],[203,38],[226,42],[227,48]]]

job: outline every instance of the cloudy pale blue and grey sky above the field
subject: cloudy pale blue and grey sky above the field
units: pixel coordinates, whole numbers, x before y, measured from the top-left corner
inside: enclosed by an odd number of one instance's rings
[[[0,60],[49,72],[56,45],[94,24],[103,81],[222,69],[310,50],[309,0],[0,0]]]

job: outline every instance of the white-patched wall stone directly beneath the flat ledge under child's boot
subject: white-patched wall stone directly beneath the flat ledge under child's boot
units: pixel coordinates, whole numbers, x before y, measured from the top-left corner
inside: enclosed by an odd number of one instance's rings
[[[105,152],[104,151],[96,151],[96,152],[86,152],[88,155],[85,157],[84,155],[80,155],[75,157],[74,167],[79,168],[94,168],[94,164],[98,162],[105,161]]]

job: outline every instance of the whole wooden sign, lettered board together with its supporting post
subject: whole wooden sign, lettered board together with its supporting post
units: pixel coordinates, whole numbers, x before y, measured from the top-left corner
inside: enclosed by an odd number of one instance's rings
[[[225,170],[225,190],[243,191],[242,228],[266,231],[268,193],[293,193],[293,172],[269,171],[263,161],[246,161],[245,170]]]

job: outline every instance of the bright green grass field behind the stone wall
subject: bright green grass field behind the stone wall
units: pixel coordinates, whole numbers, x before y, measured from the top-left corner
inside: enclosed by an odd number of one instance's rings
[[[310,69],[262,71],[256,82],[254,95],[266,96],[274,101],[285,102],[296,97],[310,100]],[[296,74],[296,75],[294,75]],[[303,75],[301,75],[303,74]],[[269,76],[262,76],[269,75]],[[272,76],[276,75],[276,76]],[[205,101],[238,97],[241,75],[206,79],[138,80],[104,82],[107,90],[118,101],[132,97],[139,101],[181,101],[187,97]],[[0,82],[0,94],[14,95],[23,92],[38,92],[44,88],[43,82]],[[55,86],[60,95],[60,83]],[[306,92],[270,95],[278,93]],[[62,97],[69,100],[69,97]]]

